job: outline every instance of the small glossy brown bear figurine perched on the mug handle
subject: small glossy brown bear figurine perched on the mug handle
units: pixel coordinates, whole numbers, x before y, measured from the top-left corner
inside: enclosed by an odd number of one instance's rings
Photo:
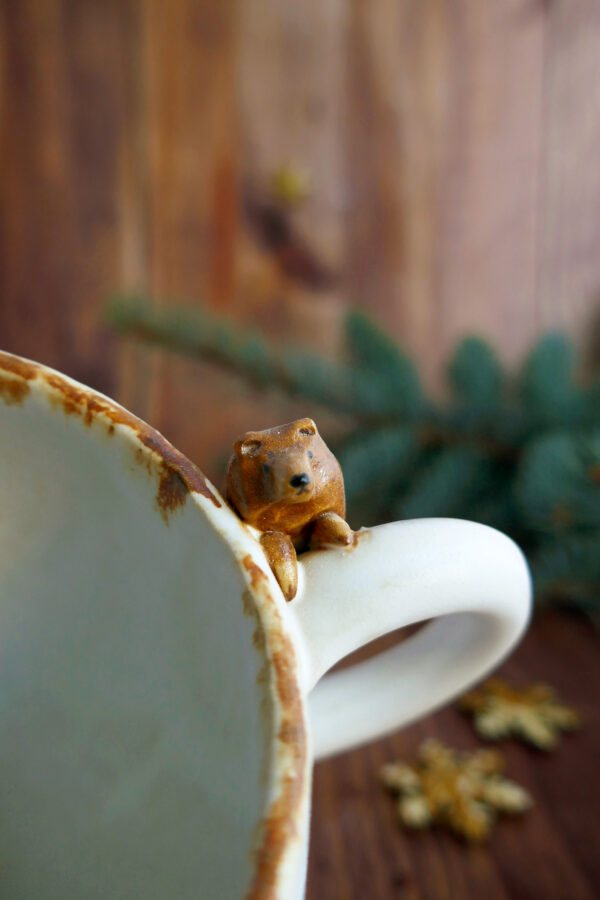
[[[225,496],[260,541],[286,600],[298,587],[296,549],[350,546],[344,479],[312,419],[249,431],[233,446]]]

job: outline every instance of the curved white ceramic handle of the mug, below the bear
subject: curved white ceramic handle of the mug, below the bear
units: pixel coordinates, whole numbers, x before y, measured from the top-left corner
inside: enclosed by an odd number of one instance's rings
[[[288,607],[305,687],[315,688],[309,709],[317,759],[394,731],[460,694],[514,647],[530,615],[527,563],[493,528],[415,519],[358,535],[352,550],[301,557],[298,594]],[[317,684],[363,644],[434,618],[399,646]]]

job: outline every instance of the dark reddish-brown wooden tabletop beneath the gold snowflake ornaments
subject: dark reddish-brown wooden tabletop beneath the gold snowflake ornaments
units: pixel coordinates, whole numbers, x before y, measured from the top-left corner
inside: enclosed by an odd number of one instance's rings
[[[481,745],[449,707],[365,748],[319,763],[314,773],[307,900],[596,900],[600,896],[600,653],[597,632],[566,613],[540,613],[500,674],[547,681],[577,707],[583,727],[550,754],[504,741],[507,774],[533,795],[489,844],[468,847],[445,832],[410,833],[380,786],[380,767],[410,759],[434,736]]]

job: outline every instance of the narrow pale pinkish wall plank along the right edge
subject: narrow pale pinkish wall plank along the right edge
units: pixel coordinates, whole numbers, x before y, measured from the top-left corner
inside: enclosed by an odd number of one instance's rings
[[[581,333],[600,307],[600,6],[551,4],[546,47],[537,327]]]

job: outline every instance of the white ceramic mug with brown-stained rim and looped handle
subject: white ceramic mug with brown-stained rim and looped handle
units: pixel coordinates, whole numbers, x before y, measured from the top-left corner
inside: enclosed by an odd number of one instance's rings
[[[302,897],[313,758],[495,666],[529,615],[520,551],[396,522],[301,557],[286,604],[257,533],[158,432],[8,354],[0,398],[0,894]]]

